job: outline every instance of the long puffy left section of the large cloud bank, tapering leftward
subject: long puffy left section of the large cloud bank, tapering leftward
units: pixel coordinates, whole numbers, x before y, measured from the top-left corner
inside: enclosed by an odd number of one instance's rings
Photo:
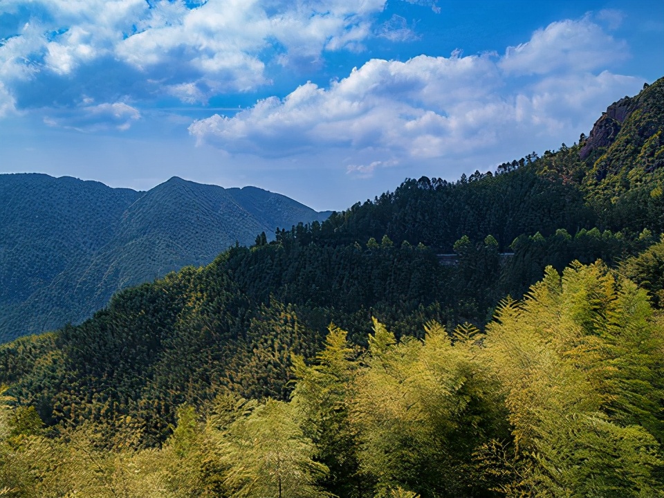
[[[269,156],[321,146],[435,156],[445,139],[481,125],[479,116],[460,123],[448,111],[463,102],[469,116],[477,114],[495,76],[488,56],[372,59],[329,89],[308,82],[283,100],[261,100],[233,118],[214,115],[194,122],[190,132],[227,151]]]

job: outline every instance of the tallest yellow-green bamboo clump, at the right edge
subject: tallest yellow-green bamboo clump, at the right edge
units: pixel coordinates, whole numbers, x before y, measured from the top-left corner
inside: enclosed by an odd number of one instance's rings
[[[601,264],[549,269],[501,306],[486,351],[513,427],[503,490],[661,496],[663,344],[645,293]]]

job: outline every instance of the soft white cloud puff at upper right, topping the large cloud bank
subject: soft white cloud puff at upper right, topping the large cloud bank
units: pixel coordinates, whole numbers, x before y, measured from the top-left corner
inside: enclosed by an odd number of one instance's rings
[[[508,47],[500,67],[513,75],[574,73],[605,67],[627,55],[625,42],[605,33],[587,16],[535,31],[530,41]]]

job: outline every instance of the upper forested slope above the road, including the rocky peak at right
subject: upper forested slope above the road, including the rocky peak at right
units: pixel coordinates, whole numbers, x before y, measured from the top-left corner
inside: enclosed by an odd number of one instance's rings
[[[660,78],[611,104],[580,144],[528,154],[452,183],[409,178],[394,192],[333,214],[313,239],[352,243],[387,234],[450,252],[464,234],[474,241],[492,234],[508,250],[520,234],[547,237],[560,228],[661,233],[663,130]]]

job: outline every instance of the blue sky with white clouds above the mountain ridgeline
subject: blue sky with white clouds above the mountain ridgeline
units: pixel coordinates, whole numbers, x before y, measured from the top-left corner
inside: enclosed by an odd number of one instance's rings
[[[0,0],[0,173],[343,210],[571,145],[662,76],[661,0]]]

